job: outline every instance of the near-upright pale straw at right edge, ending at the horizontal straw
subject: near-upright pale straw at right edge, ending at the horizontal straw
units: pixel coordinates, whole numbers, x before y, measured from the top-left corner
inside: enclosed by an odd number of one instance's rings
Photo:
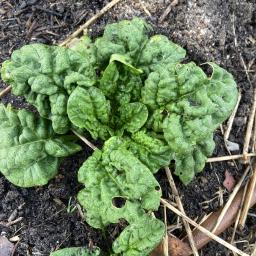
[[[244,155],[244,162],[245,163],[248,163],[248,161],[249,161],[246,154],[248,153],[248,149],[249,149],[249,145],[250,145],[252,128],[253,128],[254,117],[255,117],[255,111],[256,111],[256,89],[254,90],[252,109],[251,109],[251,113],[250,113],[250,116],[249,116],[249,121],[248,121],[247,129],[246,129],[246,135],[245,135],[245,139],[244,139],[243,155]]]

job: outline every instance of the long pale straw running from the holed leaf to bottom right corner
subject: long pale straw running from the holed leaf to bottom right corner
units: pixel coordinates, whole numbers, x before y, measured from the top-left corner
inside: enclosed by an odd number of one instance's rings
[[[239,250],[238,248],[236,248],[235,246],[229,244],[228,242],[226,242],[225,240],[223,240],[222,238],[214,235],[213,233],[211,233],[209,230],[207,230],[206,228],[198,225],[196,222],[194,222],[193,220],[191,220],[189,217],[187,217],[185,214],[183,214],[181,211],[179,211],[177,208],[175,208],[174,206],[172,206],[171,204],[169,204],[166,200],[161,198],[161,203],[163,205],[166,205],[166,207],[168,209],[170,209],[172,212],[176,213],[178,216],[184,218],[188,223],[190,223],[191,225],[195,226],[198,230],[200,230],[201,232],[203,232],[205,235],[209,236],[210,238],[212,238],[213,240],[215,240],[216,242],[224,245],[226,248],[230,249],[231,251],[236,252],[237,254],[241,255],[241,256],[249,256],[247,253],[242,252],[241,250]]]

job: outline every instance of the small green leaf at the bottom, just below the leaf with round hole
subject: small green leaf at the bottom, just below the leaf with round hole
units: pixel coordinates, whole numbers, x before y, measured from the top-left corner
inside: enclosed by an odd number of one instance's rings
[[[125,256],[145,256],[161,242],[164,223],[151,216],[133,223],[123,230],[113,244],[115,253]]]

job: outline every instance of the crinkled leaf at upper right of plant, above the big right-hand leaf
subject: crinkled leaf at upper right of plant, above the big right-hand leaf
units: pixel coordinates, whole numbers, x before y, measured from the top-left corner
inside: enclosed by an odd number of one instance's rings
[[[143,48],[138,65],[148,73],[170,63],[178,63],[185,56],[186,51],[182,47],[171,42],[166,36],[155,35]]]

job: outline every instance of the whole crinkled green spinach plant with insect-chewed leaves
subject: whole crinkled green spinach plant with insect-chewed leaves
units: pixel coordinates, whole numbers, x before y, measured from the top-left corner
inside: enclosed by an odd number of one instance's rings
[[[3,63],[2,79],[40,115],[0,106],[0,170],[18,186],[44,185],[63,157],[81,150],[71,128],[105,141],[78,172],[86,221],[104,229],[125,220],[113,255],[148,255],[165,233],[152,212],[161,188],[154,174],[175,161],[188,184],[214,149],[213,132],[237,101],[230,73],[211,76],[142,19],[107,25],[71,49],[30,44]],[[121,203],[120,203],[121,202]],[[52,255],[98,255],[70,248]]]

